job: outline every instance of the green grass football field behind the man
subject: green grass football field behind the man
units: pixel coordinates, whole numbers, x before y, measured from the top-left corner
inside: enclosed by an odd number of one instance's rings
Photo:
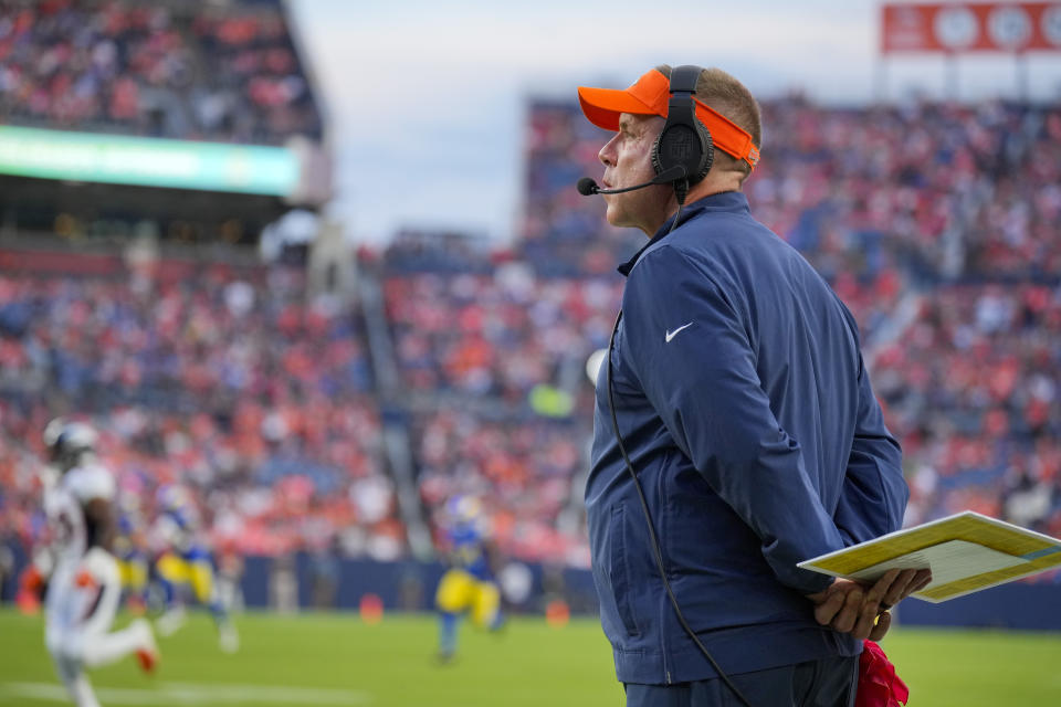
[[[104,705],[452,705],[620,707],[611,656],[593,620],[563,629],[518,618],[501,634],[462,626],[459,658],[433,661],[428,615],[244,614],[242,647],[221,653],[196,614],[161,642],[145,676],[129,658],[92,674]],[[884,647],[911,687],[911,705],[1061,705],[1061,635],[893,630]],[[43,646],[43,619],[0,610],[0,705],[64,701]]]

